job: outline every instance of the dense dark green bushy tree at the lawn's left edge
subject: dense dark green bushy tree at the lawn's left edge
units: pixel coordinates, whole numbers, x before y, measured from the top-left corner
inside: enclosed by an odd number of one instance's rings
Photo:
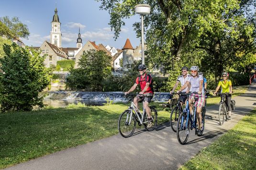
[[[43,107],[43,91],[50,82],[45,68],[45,57],[35,50],[22,48],[15,43],[3,46],[5,55],[0,58],[0,109],[1,111],[30,111],[33,106]]]

